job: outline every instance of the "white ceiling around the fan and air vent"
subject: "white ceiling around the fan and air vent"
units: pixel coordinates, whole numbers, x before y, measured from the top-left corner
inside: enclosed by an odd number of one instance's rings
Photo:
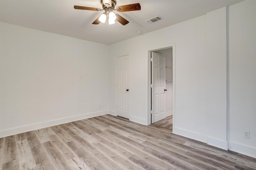
[[[230,6],[242,0],[117,0],[116,6],[140,3],[140,11],[116,12],[127,25],[92,22],[103,12],[75,10],[74,5],[101,8],[100,0],[1,0],[1,21],[110,45]],[[155,16],[164,20],[145,21]]]

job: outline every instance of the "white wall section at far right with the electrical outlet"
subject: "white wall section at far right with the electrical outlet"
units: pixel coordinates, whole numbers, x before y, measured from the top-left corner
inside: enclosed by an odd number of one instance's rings
[[[230,6],[228,16],[229,149],[256,157],[256,1]]]

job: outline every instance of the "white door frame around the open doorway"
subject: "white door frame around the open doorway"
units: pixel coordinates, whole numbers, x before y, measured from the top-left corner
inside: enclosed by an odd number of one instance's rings
[[[151,123],[151,113],[150,113],[150,110],[151,110],[151,61],[150,61],[150,58],[151,58],[151,52],[153,51],[157,51],[157,50],[162,50],[162,49],[168,49],[168,48],[172,48],[172,61],[173,61],[173,65],[172,65],[172,68],[173,68],[173,79],[172,79],[172,83],[173,83],[173,95],[172,95],[172,98],[173,98],[173,117],[172,117],[172,127],[175,127],[175,70],[176,70],[176,60],[175,60],[175,43],[172,43],[172,44],[168,44],[168,45],[163,45],[163,46],[158,46],[158,47],[155,47],[155,48],[152,48],[152,49],[147,49],[146,50],[146,53],[147,53],[147,61],[148,61],[148,70],[147,70],[147,94],[146,94],[146,98],[147,98],[147,103],[146,103],[146,123],[147,125],[150,125]],[[175,128],[173,128],[175,129]]]

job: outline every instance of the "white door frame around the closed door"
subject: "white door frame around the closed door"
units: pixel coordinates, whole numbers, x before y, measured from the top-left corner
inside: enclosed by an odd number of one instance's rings
[[[129,119],[131,118],[131,55],[130,53],[129,54],[122,54],[122,55],[116,55],[116,90],[115,90],[115,98],[116,98],[116,109],[115,109],[115,116],[117,116],[117,97],[116,97],[116,94],[117,94],[117,59],[118,57],[123,57],[123,56],[126,56],[126,55],[129,55],[130,57],[130,80],[129,80],[129,95],[130,95],[130,98],[129,98]]]

